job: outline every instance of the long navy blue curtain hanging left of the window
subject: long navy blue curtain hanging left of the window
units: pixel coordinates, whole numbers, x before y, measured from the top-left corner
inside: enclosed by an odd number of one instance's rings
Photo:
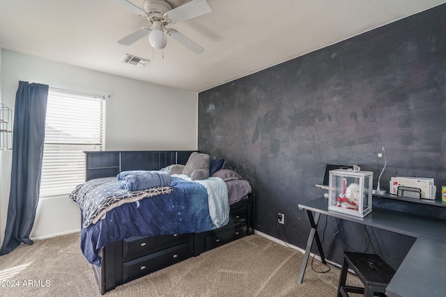
[[[20,243],[33,244],[29,234],[39,198],[47,100],[47,85],[19,81],[15,95],[8,218],[0,255],[8,254]]]

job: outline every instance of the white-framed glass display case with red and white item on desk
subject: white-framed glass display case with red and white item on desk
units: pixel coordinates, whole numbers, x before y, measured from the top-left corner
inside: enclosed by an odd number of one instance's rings
[[[328,210],[364,218],[371,212],[373,172],[330,170]]]

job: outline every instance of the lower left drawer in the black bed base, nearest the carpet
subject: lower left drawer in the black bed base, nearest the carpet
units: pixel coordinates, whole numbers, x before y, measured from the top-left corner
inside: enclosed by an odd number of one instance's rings
[[[192,257],[189,243],[181,243],[123,263],[123,283]]]

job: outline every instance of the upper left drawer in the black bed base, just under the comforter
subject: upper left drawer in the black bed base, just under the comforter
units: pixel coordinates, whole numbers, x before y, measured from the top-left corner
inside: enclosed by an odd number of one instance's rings
[[[193,234],[134,236],[123,239],[123,262],[191,241]]]

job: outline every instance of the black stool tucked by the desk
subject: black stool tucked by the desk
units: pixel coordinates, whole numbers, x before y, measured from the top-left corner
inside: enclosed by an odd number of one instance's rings
[[[357,278],[364,284],[364,288],[346,285],[348,268],[355,271]],[[394,269],[378,255],[344,252],[337,297],[348,297],[348,292],[364,294],[366,297],[385,296],[385,288],[394,274]]]

